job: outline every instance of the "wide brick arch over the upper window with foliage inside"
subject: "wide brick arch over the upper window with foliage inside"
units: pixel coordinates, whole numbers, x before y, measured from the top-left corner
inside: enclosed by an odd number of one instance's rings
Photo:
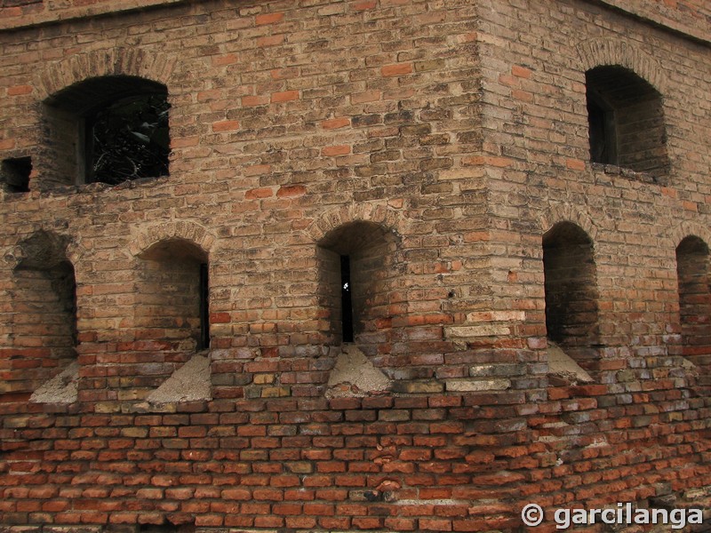
[[[40,99],[46,99],[85,79],[100,76],[138,76],[170,87],[176,58],[132,48],[95,50],[52,63],[36,75]]]

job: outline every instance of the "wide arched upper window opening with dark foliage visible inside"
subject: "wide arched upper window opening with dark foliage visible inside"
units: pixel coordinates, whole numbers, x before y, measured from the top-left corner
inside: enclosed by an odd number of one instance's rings
[[[164,84],[137,76],[84,80],[44,102],[44,185],[168,175],[170,133]]]

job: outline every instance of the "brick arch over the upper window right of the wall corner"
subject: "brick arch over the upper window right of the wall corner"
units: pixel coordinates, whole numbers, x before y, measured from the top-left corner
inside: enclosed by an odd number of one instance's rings
[[[619,65],[635,72],[663,93],[666,88],[664,69],[650,54],[625,41],[616,39],[588,39],[578,45],[580,69],[586,72],[591,68]]]

